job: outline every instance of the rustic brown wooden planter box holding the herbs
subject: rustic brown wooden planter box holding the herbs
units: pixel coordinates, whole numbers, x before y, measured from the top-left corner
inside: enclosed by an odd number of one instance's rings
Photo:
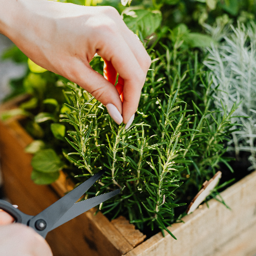
[[[5,104],[10,108],[15,104]],[[31,155],[24,148],[32,138],[17,120],[0,122],[0,154],[7,197],[27,214],[36,215],[71,189],[64,174],[51,186],[36,185],[30,180]],[[246,170],[243,170],[246,171]],[[51,231],[46,240],[54,256],[253,256],[256,254],[256,171],[221,193],[228,210],[216,200],[201,205],[173,224],[170,231],[146,241],[125,220],[109,220],[90,210]],[[141,244],[139,244],[142,242]],[[139,244],[139,245],[138,245]]]

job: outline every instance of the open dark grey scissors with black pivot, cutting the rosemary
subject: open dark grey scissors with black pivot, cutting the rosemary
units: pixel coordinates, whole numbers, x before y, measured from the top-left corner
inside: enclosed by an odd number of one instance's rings
[[[22,213],[4,200],[0,200],[0,209],[13,216],[16,223],[22,223],[33,228],[39,235],[45,238],[49,231],[120,193],[120,190],[117,189],[76,203],[96,180],[101,177],[105,170],[106,169],[99,171],[36,216]]]

